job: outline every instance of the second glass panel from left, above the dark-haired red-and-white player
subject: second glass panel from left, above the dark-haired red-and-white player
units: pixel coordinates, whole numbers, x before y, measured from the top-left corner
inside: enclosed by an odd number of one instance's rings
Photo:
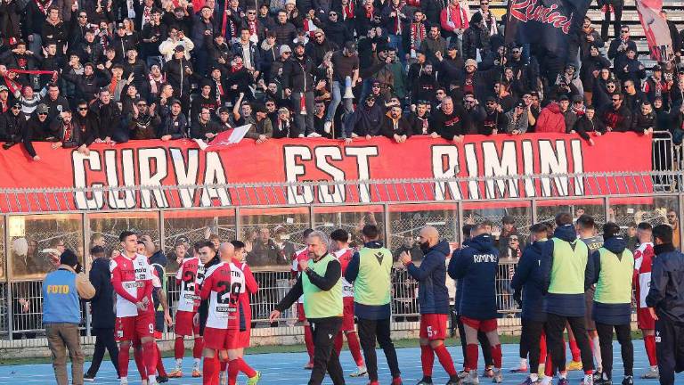
[[[102,246],[108,256],[120,249],[118,235],[132,231],[138,235],[150,235],[159,246],[159,214],[157,212],[116,212],[88,214],[90,225],[89,245]]]

